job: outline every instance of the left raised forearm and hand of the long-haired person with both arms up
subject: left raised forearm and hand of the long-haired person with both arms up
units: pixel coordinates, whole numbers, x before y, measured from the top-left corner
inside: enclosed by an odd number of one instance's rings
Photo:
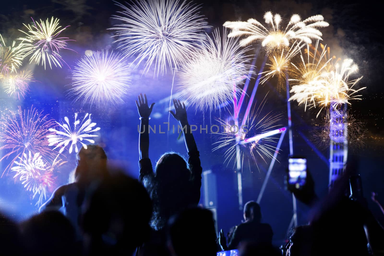
[[[149,115],[151,115],[153,105],[148,107],[147,96],[140,94],[137,97],[136,106],[140,115],[140,134],[139,134],[139,160],[149,158]]]

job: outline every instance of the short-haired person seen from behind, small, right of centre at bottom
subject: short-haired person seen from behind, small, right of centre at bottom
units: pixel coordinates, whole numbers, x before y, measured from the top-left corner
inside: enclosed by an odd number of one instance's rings
[[[249,201],[244,205],[244,222],[237,226],[233,232],[228,246],[220,232],[220,244],[223,249],[235,249],[242,241],[252,241],[253,246],[271,246],[273,231],[269,224],[261,223],[262,213],[258,203]],[[224,239],[223,239],[224,238]],[[227,248],[226,248],[227,247]]]

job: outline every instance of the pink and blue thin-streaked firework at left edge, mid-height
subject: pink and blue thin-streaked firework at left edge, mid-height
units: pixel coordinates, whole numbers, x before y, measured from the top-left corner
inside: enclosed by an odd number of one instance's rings
[[[12,157],[10,164],[4,169],[9,172],[10,168],[18,157],[22,157],[26,152],[31,151],[32,154],[40,153],[45,159],[54,159],[56,152],[48,147],[46,136],[53,134],[49,129],[56,127],[53,119],[48,119],[48,114],[43,115],[43,111],[39,112],[36,108],[31,107],[26,112],[18,107],[17,113],[10,111],[0,119],[0,147],[1,151],[5,151],[0,162],[4,159]]]

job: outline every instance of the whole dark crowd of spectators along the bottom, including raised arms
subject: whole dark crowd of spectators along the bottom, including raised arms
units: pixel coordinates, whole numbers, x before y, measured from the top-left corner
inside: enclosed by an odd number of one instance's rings
[[[0,215],[2,255],[214,256],[233,249],[238,254],[220,255],[384,255],[382,226],[364,198],[346,195],[348,167],[326,198],[314,193],[310,173],[303,189],[291,191],[312,214],[280,248],[272,244],[273,230],[254,201],[244,205],[243,222],[227,238],[222,230],[217,234],[212,212],[198,206],[202,167],[185,105],[173,104],[170,114],[186,127],[187,160],[166,152],[152,167],[148,125],[154,103],[148,106],[140,94],[138,179],[110,167],[102,147],[81,148],[73,182],[58,187],[37,215],[21,223]],[[376,194],[372,200],[382,210]]]

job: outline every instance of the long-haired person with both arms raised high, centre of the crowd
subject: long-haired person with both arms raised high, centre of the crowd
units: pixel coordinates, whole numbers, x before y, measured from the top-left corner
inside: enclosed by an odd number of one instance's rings
[[[139,135],[139,181],[147,188],[154,202],[151,226],[161,230],[170,216],[188,206],[197,206],[200,200],[202,168],[199,151],[187,120],[184,103],[173,100],[175,112],[172,116],[180,122],[183,129],[185,145],[188,151],[188,162],[177,153],[166,153],[157,161],[155,173],[149,159],[149,115],[152,107],[148,107],[147,96],[142,94],[136,101],[141,118]]]

